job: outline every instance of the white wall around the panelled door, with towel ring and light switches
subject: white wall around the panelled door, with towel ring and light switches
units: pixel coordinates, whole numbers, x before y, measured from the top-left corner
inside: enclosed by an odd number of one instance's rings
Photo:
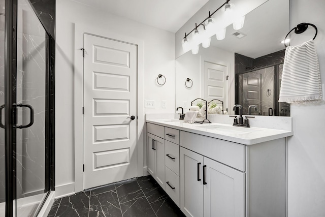
[[[60,195],[74,192],[74,26],[96,26],[121,36],[133,37],[144,44],[145,85],[139,86],[144,99],[155,100],[155,109],[144,109],[144,113],[173,113],[175,80],[175,34],[139,22],[91,8],[71,0],[56,1],[56,59],[55,59],[55,116],[56,116],[56,190]],[[158,74],[167,82],[164,86],[155,83]],[[167,108],[161,108],[161,100]],[[139,117],[144,120],[143,117]],[[146,161],[145,161],[146,162]],[[58,196],[58,195],[56,195]]]

